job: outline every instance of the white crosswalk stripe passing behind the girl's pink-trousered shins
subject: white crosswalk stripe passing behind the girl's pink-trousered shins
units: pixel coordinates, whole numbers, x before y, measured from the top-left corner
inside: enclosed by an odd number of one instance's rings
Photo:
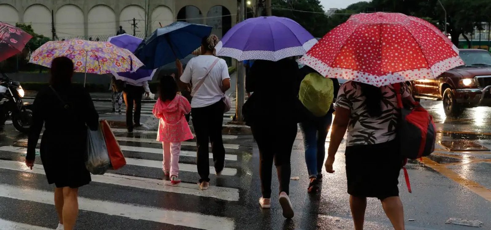
[[[14,146],[1,146],[0,151],[8,151],[8,152],[16,152],[16,153],[26,153],[27,149],[24,147],[14,147]],[[36,149],[39,151],[39,149]],[[135,159],[135,158],[125,158],[127,165],[136,165],[143,167],[151,167],[151,168],[162,168],[162,161],[152,161],[152,160],[144,160],[144,159]],[[198,172],[196,164],[186,164],[179,163],[179,171],[187,171],[187,172]],[[215,167],[210,166],[210,172],[215,172]],[[236,168],[223,168],[221,173],[224,176],[235,176],[237,175]]]

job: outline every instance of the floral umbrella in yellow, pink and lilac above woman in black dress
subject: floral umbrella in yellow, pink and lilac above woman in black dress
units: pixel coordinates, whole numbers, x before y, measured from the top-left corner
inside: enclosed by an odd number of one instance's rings
[[[80,39],[47,42],[32,53],[29,62],[51,67],[53,59],[60,56],[72,59],[75,72],[96,74],[129,72],[143,66],[143,63],[127,49],[109,42]]]

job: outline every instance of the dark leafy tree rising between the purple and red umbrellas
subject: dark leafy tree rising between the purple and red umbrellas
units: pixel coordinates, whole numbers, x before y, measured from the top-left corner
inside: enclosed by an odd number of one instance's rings
[[[314,37],[323,37],[327,28],[327,15],[319,0],[272,0],[273,15],[290,18]]]

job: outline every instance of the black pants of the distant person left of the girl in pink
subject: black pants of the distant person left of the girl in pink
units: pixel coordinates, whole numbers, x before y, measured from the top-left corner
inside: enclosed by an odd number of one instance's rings
[[[143,87],[126,85],[123,91],[124,103],[126,104],[126,127],[133,129],[133,121],[135,124],[140,124],[141,115],[141,96]],[[135,104],[135,120],[133,120],[133,104]]]

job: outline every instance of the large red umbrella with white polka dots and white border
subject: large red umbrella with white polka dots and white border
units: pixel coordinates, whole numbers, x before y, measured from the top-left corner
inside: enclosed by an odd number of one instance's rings
[[[381,12],[353,15],[300,62],[326,77],[374,86],[436,78],[464,65],[457,47],[431,23]]]

